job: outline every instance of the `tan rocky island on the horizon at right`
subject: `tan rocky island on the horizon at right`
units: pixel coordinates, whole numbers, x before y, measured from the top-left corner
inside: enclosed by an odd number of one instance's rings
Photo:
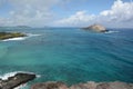
[[[83,29],[91,30],[91,31],[96,31],[96,32],[106,32],[108,31],[105,29],[105,27],[103,27],[101,24],[92,24],[92,26],[83,28]]]

